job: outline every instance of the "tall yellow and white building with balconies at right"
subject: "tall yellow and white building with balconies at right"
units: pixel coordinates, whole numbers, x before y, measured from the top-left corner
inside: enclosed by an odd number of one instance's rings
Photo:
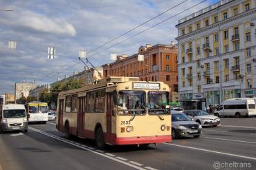
[[[223,0],[179,20],[181,105],[256,96],[255,5],[255,0]]]

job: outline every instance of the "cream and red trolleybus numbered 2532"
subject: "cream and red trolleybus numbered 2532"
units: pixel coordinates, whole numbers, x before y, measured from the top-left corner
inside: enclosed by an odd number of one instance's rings
[[[60,92],[56,127],[66,138],[91,138],[99,148],[171,142],[169,92],[162,82],[108,77]]]

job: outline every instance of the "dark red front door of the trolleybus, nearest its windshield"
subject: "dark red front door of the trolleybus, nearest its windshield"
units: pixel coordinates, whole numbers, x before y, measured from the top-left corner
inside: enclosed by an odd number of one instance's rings
[[[111,116],[113,112],[113,93],[107,94],[107,134],[111,134]]]

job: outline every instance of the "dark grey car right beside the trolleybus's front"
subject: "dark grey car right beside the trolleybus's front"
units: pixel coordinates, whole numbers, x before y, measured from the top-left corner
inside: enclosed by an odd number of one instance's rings
[[[202,126],[196,123],[183,113],[172,114],[172,138],[181,136],[194,136],[199,138],[202,133]]]

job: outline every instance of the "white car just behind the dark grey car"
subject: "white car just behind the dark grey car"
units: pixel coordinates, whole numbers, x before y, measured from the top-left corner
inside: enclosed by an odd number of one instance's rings
[[[210,115],[203,110],[185,110],[183,113],[189,118],[193,118],[196,123],[200,123],[203,127],[217,127],[217,125],[221,125],[221,120],[217,116]]]

